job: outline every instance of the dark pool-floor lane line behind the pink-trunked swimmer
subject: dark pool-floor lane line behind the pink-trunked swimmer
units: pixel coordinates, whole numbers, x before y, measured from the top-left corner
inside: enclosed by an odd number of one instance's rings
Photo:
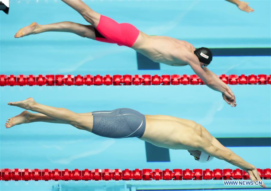
[[[271,56],[271,48],[211,48],[213,56]],[[160,70],[160,63],[136,52],[138,70]]]

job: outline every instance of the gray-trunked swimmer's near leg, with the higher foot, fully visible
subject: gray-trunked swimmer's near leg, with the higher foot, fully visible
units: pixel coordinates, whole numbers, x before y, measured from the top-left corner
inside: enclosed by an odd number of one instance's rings
[[[35,111],[64,124],[70,124],[76,128],[83,128],[87,131],[92,131],[93,117],[92,115],[79,115],[65,108],[55,108],[47,105],[42,105],[34,101],[33,98],[28,98],[20,102],[9,102],[8,105],[14,105],[26,110]]]

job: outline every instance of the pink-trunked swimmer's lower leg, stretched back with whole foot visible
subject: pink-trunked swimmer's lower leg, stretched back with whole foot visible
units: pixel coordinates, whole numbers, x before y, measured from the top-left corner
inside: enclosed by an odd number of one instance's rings
[[[44,33],[49,31],[74,33],[79,36],[95,40],[95,31],[92,25],[83,25],[68,21],[46,25],[39,25],[38,23],[34,22],[29,26],[20,29],[14,37],[20,38],[31,34]]]

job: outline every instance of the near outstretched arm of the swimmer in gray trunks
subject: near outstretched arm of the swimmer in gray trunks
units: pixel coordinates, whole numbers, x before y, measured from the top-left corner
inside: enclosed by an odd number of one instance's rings
[[[199,150],[208,153],[218,159],[224,160],[232,165],[235,165],[249,174],[249,178],[252,181],[261,181],[260,175],[255,166],[249,164],[244,159],[236,155],[234,152],[229,152],[223,149],[220,149],[214,146],[208,139],[205,137],[197,136],[193,139],[195,144],[194,146]],[[266,186],[262,185],[266,188]]]

